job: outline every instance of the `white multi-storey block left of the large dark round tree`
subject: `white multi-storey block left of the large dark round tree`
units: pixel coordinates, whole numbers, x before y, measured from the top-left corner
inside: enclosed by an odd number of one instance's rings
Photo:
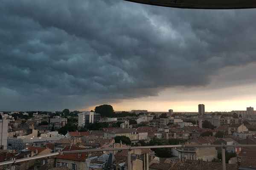
[[[100,114],[95,112],[83,112],[78,114],[78,126],[84,127],[89,123],[96,123],[100,119]]]

